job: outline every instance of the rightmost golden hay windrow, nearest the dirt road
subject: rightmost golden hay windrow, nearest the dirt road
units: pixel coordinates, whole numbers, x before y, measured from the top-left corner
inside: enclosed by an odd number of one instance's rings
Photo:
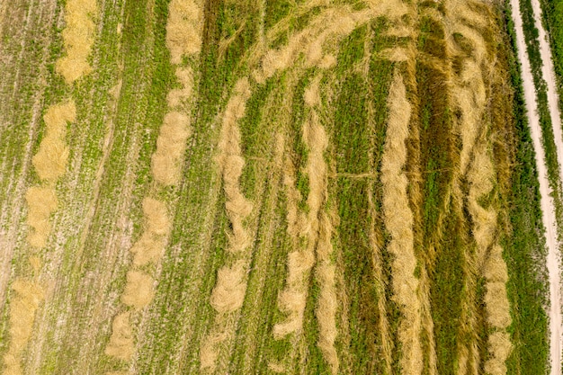
[[[496,209],[483,207],[479,200],[493,189],[494,165],[488,156],[487,145],[483,132],[483,114],[487,106],[486,79],[490,76],[494,57],[487,53],[486,42],[479,30],[487,29],[486,15],[476,13],[466,2],[450,0],[446,2],[447,35],[446,46],[450,53],[460,58],[460,71],[451,80],[451,100],[460,111],[457,121],[457,132],[461,137],[460,175],[467,175],[469,180],[468,208],[473,220],[473,237],[477,244],[477,251],[472,264],[474,272],[482,270],[486,278],[485,305],[487,323],[497,329],[505,329],[512,323],[510,306],[506,295],[507,281],[506,264],[502,257],[502,248],[495,244]],[[454,35],[457,36],[454,38]],[[461,43],[461,44],[460,44]],[[462,48],[465,45],[465,48]],[[467,46],[470,46],[467,52]],[[470,160],[472,157],[472,160]],[[491,247],[492,246],[492,247]],[[487,258],[487,249],[492,248]],[[471,277],[471,276],[469,276]],[[476,288],[475,281],[466,281],[471,289]],[[474,293],[471,291],[470,293]],[[463,308],[464,314],[473,316],[475,304]],[[470,311],[468,311],[470,310]],[[470,319],[472,325],[477,324]],[[474,327],[468,327],[472,330]],[[506,340],[498,340],[499,337]],[[460,372],[471,373],[478,371],[477,337],[473,336],[473,343],[468,347],[460,347]],[[500,346],[497,346],[500,345]],[[505,360],[507,350],[510,352],[509,336],[504,332],[491,335],[488,340],[488,351],[492,359],[486,363],[486,371],[495,374],[505,374]],[[487,370],[488,369],[488,370]]]

